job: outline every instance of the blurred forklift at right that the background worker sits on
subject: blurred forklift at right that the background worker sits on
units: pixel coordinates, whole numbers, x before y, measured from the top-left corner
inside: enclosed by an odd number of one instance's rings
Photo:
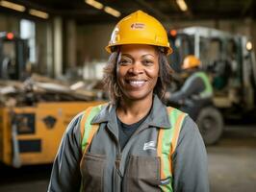
[[[201,61],[214,88],[213,105],[201,108],[194,119],[206,144],[214,144],[223,132],[223,118],[243,118],[255,114],[256,62],[252,42],[247,36],[204,27],[169,31],[173,47],[170,56],[174,76],[172,91],[179,89],[183,60],[193,55]]]

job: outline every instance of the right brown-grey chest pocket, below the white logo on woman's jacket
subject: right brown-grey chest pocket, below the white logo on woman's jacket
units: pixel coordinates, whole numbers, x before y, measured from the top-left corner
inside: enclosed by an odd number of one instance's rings
[[[160,158],[157,156],[130,156],[123,181],[123,191],[161,191]]]

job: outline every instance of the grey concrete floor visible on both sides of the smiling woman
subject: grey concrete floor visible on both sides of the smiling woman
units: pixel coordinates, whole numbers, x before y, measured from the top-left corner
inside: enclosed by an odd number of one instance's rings
[[[207,152],[211,192],[256,191],[256,124],[227,126],[218,145]],[[50,171],[51,165],[0,167],[0,191],[45,192]]]

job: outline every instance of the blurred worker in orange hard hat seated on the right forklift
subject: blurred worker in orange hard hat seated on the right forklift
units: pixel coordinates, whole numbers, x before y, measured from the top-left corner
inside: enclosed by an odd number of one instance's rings
[[[189,113],[193,120],[201,108],[212,104],[213,87],[205,72],[200,69],[200,60],[190,55],[182,64],[187,80],[180,90],[166,93],[168,104],[179,104],[181,110]]]

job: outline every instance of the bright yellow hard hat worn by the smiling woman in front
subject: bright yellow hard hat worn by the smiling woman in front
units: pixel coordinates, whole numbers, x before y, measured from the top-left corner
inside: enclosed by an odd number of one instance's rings
[[[141,11],[129,14],[116,24],[106,50],[112,53],[116,45],[125,44],[155,45],[164,47],[166,55],[172,52],[163,25],[153,16]]]

